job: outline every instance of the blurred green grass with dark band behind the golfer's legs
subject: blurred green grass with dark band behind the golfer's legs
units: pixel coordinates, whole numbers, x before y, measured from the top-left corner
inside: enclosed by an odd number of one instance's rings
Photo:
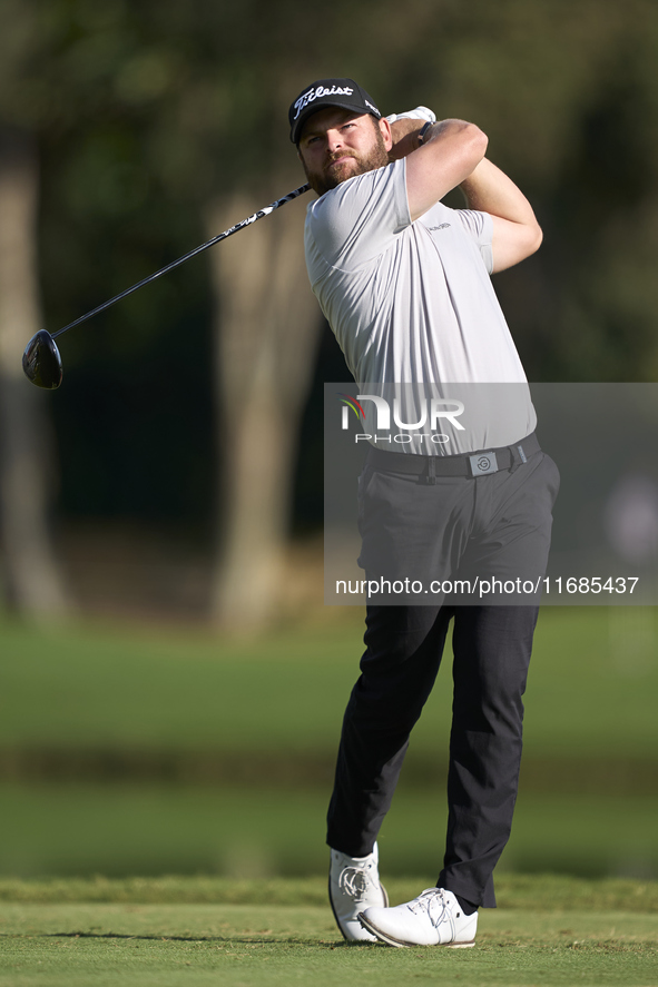
[[[656,630],[644,608],[540,615],[503,871],[658,875]],[[242,641],[0,621],[0,874],[324,870],[324,815],[361,631],[355,609]],[[445,667],[382,831],[391,874],[432,881],[439,869],[450,684]],[[68,759],[94,751],[108,754],[105,783],[92,772],[73,783]],[[146,764],[131,783],[120,772],[111,780],[117,752]],[[148,774],[161,752],[175,781]],[[63,768],[55,780],[51,763]],[[223,773],[235,764],[240,787]]]

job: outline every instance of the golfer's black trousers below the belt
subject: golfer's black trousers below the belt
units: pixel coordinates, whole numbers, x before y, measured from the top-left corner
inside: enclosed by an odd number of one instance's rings
[[[421,571],[418,560],[429,559],[424,579],[454,579],[464,571],[536,579],[546,570],[558,485],[554,463],[541,452],[518,470],[430,486],[366,467],[362,564],[400,578],[412,566]],[[371,852],[454,620],[449,821],[438,886],[492,908],[492,871],[509,839],[517,798],[522,695],[538,606],[534,600],[526,605],[467,605],[449,596],[433,602],[367,608],[365,653],[343,721],[327,842],[352,857]]]

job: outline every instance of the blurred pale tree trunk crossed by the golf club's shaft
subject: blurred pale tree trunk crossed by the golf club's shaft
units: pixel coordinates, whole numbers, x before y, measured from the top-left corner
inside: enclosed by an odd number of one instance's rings
[[[210,235],[263,204],[234,195],[214,205]],[[305,207],[289,203],[210,253],[223,466],[212,611],[235,630],[263,626],[281,600],[299,417],[320,337]]]

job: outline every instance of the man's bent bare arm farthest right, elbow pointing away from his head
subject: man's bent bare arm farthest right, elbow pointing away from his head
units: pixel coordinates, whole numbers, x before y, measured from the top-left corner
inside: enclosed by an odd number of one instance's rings
[[[493,220],[493,273],[519,264],[539,249],[542,233],[532,206],[511,178],[483,158],[460,184],[469,209]]]

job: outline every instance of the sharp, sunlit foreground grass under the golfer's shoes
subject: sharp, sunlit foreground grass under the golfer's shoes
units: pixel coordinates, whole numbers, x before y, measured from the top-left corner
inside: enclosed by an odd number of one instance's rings
[[[16,885],[13,900],[0,904],[0,985],[658,984],[658,886],[544,878],[514,888],[512,881],[507,891],[518,907],[483,911],[470,950],[344,944],[320,881],[235,886],[239,904],[227,904],[226,882],[214,889],[216,904],[207,904],[213,889],[198,880],[106,882],[104,904],[86,900],[98,889],[98,882]],[[0,884],[2,898],[8,890]],[[391,890],[418,892],[400,882]],[[200,901],[189,900],[197,895]]]

